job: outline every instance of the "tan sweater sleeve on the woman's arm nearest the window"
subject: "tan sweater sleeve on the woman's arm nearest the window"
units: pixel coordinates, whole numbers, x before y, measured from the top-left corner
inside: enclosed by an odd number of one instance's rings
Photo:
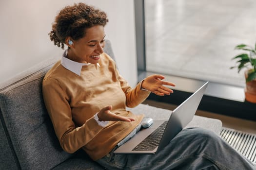
[[[119,74],[118,69],[116,70],[116,76],[120,82],[121,88],[126,96],[126,106],[127,107],[136,107],[141,102],[145,101],[149,96],[150,92],[141,90],[140,83],[136,87],[132,88],[128,82]]]

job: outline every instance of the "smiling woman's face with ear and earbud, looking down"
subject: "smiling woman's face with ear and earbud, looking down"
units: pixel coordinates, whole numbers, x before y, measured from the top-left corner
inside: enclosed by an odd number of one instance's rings
[[[68,37],[66,42],[71,39],[73,45],[68,45],[70,49],[67,58],[79,63],[97,64],[105,46],[104,37],[105,32],[102,25],[87,28],[85,36],[79,40]]]

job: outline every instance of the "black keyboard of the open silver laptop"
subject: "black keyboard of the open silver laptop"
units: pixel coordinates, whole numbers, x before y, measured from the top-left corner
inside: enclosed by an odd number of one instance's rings
[[[164,121],[152,134],[142,140],[133,151],[153,151],[156,149],[163,136],[167,122]]]

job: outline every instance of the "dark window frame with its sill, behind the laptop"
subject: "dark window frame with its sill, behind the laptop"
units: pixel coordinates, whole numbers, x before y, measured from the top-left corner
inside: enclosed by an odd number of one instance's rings
[[[157,74],[157,72],[148,72],[146,69],[144,3],[144,0],[134,0],[138,82],[150,74]],[[173,88],[175,93],[170,96],[159,97],[151,93],[148,99],[178,105],[205,82],[186,77],[164,76],[167,81],[179,84],[185,83]],[[203,96],[198,109],[256,121],[256,104],[245,101],[244,88],[242,87],[210,82],[207,87],[207,93]]]

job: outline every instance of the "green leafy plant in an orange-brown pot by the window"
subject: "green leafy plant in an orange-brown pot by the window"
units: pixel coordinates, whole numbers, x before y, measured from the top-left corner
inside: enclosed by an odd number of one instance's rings
[[[245,100],[256,103],[256,44],[255,47],[250,47],[245,44],[240,44],[235,47],[235,50],[242,50],[245,53],[236,55],[233,59],[237,59],[237,65],[231,68],[238,68],[238,73],[241,69],[245,70]]]

